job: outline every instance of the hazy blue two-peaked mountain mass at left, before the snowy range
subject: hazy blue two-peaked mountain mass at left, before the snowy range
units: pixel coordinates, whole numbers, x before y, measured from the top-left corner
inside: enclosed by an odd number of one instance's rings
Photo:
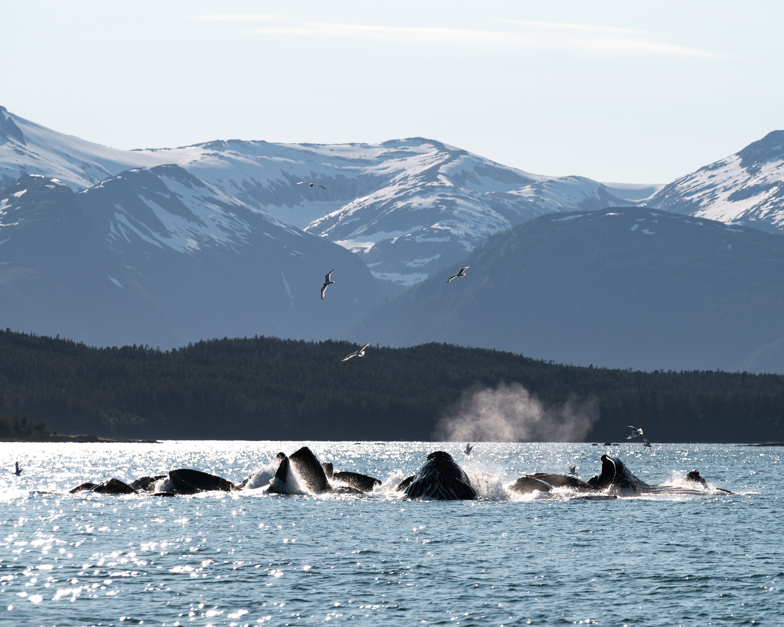
[[[2,324],[98,346],[346,335],[383,297],[345,248],[178,166],[74,194],[30,175],[0,194]],[[319,290],[336,268],[328,298]]]

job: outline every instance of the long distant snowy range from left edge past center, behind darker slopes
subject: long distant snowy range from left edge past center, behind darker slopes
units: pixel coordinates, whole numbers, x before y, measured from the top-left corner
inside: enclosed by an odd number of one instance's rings
[[[123,170],[180,165],[227,197],[356,252],[374,276],[398,288],[459,263],[489,234],[526,219],[636,204],[656,189],[539,176],[423,138],[115,150],[5,109],[0,118],[9,129],[0,136],[5,183],[36,173],[84,190]]]

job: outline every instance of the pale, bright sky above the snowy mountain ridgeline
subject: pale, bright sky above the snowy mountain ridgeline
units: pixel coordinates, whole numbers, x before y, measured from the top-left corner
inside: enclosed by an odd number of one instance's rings
[[[668,183],[784,128],[781,2],[11,2],[0,105],[118,148],[424,136]]]

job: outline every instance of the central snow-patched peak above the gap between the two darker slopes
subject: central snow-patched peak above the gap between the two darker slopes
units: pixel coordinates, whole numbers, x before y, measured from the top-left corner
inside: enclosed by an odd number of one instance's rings
[[[433,140],[384,144],[387,185],[314,220],[310,233],[358,253],[373,276],[414,285],[487,237],[544,213],[629,205],[602,183],[522,172]],[[377,158],[383,158],[384,153]]]

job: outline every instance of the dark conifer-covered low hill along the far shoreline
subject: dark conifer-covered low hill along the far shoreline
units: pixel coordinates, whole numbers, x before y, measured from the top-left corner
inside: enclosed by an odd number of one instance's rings
[[[517,382],[547,405],[595,401],[589,441],[620,441],[627,424],[654,443],[784,440],[784,375],[583,368],[436,343],[340,361],[356,348],[254,337],[163,352],[0,331],[0,437],[46,422],[140,439],[430,440],[466,390]]]

